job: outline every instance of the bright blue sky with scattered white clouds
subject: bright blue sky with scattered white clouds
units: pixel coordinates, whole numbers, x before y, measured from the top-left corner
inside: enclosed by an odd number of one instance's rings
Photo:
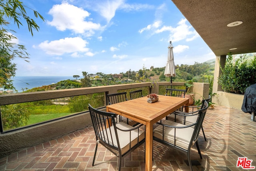
[[[171,0],[24,0],[45,22],[34,36],[15,30],[30,63],[16,58],[16,76],[119,74],[166,65],[169,41],[175,64],[192,65],[214,53]]]

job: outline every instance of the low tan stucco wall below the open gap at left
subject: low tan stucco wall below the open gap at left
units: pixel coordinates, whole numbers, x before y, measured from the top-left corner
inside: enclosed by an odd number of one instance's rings
[[[9,155],[25,147],[32,147],[42,142],[50,141],[90,125],[92,125],[90,113],[85,112],[57,121],[50,121],[29,128],[0,134],[0,157]]]

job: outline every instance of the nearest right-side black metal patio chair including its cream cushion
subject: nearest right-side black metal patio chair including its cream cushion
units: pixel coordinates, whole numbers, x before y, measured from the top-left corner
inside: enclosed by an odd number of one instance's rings
[[[198,145],[198,135],[202,123],[204,121],[204,116],[208,108],[208,103],[204,101],[204,107],[199,109],[196,113],[192,115],[186,115],[186,117],[197,116],[196,122],[190,125],[183,125],[170,120],[165,120],[159,124],[153,131],[153,139],[174,148],[182,153],[186,153],[188,157],[188,163],[190,170],[192,171],[192,163],[190,160],[190,148],[196,143],[198,154],[202,159],[201,151]]]

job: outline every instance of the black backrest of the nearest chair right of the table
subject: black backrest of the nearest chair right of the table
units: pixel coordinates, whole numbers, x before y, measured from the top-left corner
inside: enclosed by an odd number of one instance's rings
[[[198,118],[197,118],[196,125],[194,127],[194,132],[193,132],[193,135],[192,135],[192,141],[193,141],[192,144],[194,144],[198,139],[198,135],[199,135],[200,129],[202,127],[204,117],[206,115],[206,111],[207,111],[207,108],[208,108],[207,101],[204,101],[204,104],[202,106],[203,106],[202,109],[198,110]]]

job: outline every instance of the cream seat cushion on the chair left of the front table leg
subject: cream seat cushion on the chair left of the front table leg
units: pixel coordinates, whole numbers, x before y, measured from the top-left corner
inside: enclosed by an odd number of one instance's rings
[[[134,127],[127,125],[126,123],[123,123],[123,122],[116,123],[116,127],[120,128],[120,129],[124,129],[124,130],[134,128]],[[110,135],[109,129],[111,130],[111,133],[112,133],[113,142],[112,142],[111,137],[108,137],[108,140],[110,141],[110,144],[113,143],[113,145],[117,147],[117,141],[116,141],[116,136],[115,136],[115,131],[114,131],[113,125],[103,131],[104,135],[106,137],[106,131],[108,132],[108,135]],[[124,154],[130,149],[130,131],[120,131],[117,129],[117,134],[118,134],[118,139],[119,139],[119,144],[120,144],[122,154]],[[144,139],[144,137],[145,137],[144,131],[139,130],[139,134],[138,134],[138,129],[131,131],[131,148],[138,143],[138,137],[139,137],[139,141]],[[106,138],[106,141],[107,141],[107,138]]]

